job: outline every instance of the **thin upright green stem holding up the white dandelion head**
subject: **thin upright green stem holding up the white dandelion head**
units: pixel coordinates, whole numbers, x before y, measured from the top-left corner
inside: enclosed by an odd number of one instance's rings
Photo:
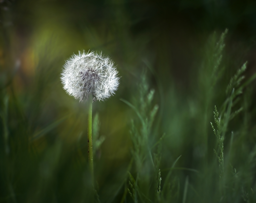
[[[89,168],[92,176],[92,184],[94,184],[94,174],[93,174],[93,151],[92,151],[92,95],[88,98],[89,109],[88,109],[88,158],[89,158]]]

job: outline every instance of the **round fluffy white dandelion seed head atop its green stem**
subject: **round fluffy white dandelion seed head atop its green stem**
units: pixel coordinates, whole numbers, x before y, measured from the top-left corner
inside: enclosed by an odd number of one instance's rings
[[[63,67],[63,89],[80,101],[88,99],[90,94],[93,101],[105,100],[118,88],[119,77],[114,62],[101,53],[79,51]]]

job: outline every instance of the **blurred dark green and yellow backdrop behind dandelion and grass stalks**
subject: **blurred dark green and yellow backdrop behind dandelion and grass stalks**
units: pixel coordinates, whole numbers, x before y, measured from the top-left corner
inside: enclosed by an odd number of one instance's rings
[[[102,51],[121,77],[114,96],[93,103],[99,135],[105,137],[94,154],[101,202],[122,200],[132,159],[131,119],[137,117],[120,99],[139,100],[145,72],[149,89],[155,90],[153,103],[159,105],[150,146],[166,134],[160,167],[164,178],[164,170],[180,155],[177,166],[198,171],[215,160],[214,105],[221,108],[229,80],[244,62],[246,78],[256,70],[252,0],[1,0],[0,20],[0,202],[90,202],[87,103],[68,96],[60,82],[62,66],[73,53]],[[202,68],[210,63],[209,39],[216,31],[218,41],[226,28],[223,76],[209,91],[211,73]],[[245,110],[231,121],[224,140],[228,147],[234,132],[227,167],[250,171],[241,177],[248,185],[255,185],[256,174],[255,157],[254,165],[246,161],[256,142],[255,84],[242,94],[239,104]],[[181,194],[189,177],[191,185],[202,186],[197,191],[201,202],[214,196],[210,181],[209,187],[197,181],[203,175],[176,173]],[[208,191],[202,193],[204,189]],[[192,189],[188,196],[188,202],[198,198]],[[180,196],[177,202],[182,200]]]

